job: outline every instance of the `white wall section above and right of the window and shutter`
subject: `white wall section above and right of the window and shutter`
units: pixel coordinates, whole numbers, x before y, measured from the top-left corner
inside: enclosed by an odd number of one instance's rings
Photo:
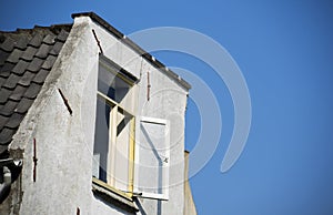
[[[138,214],[183,214],[184,182],[184,112],[188,92],[174,80],[159,71],[150,62],[124,45],[121,40],[93,24],[104,55],[140,79],[137,114],[170,120],[170,199],[157,201],[139,198]],[[148,101],[148,72],[150,73],[150,100]],[[139,119],[139,117],[138,117]]]

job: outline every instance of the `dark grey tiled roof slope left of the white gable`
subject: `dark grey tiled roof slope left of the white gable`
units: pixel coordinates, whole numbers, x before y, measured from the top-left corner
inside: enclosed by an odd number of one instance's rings
[[[40,92],[71,24],[0,31],[0,157]]]

